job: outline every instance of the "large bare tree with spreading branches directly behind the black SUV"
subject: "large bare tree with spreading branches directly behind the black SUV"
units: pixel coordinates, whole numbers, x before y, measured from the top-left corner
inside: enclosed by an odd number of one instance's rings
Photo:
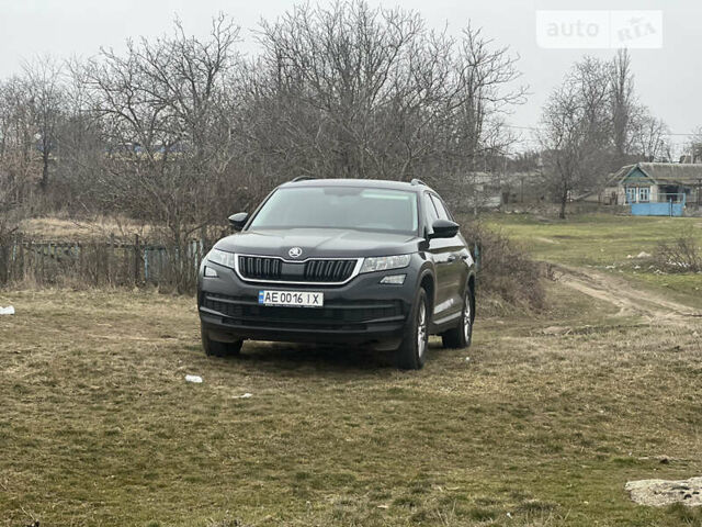
[[[437,184],[465,179],[509,137],[514,58],[467,27],[434,33],[415,12],[363,1],[296,7],[263,23],[249,79],[256,171]]]

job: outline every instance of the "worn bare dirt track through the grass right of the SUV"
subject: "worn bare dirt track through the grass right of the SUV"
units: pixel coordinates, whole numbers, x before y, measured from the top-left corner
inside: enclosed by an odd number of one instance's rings
[[[702,313],[657,293],[636,289],[620,277],[592,269],[555,266],[556,280],[576,291],[619,307],[619,316],[639,315],[649,319],[687,319]]]

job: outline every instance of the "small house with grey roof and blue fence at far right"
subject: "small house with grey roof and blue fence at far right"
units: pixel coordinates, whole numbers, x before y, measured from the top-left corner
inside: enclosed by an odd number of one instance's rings
[[[616,203],[631,205],[634,215],[681,216],[686,208],[702,205],[702,164],[638,162],[621,168],[612,181]]]

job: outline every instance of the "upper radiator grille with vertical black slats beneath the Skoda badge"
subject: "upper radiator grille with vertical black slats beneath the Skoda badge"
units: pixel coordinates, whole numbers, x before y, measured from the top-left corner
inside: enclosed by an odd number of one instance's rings
[[[344,282],[351,278],[356,265],[356,260],[351,259],[291,262],[267,256],[239,256],[238,258],[241,278],[280,282]]]

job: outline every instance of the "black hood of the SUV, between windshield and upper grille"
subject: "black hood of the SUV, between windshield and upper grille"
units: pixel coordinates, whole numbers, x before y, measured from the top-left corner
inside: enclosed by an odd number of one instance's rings
[[[246,231],[227,236],[215,248],[229,253],[279,256],[287,260],[307,258],[356,258],[415,253],[422,238],[407,234],[370,233],[335,228],[285,228]],[[299,247],[302,255],[290,256]]]

